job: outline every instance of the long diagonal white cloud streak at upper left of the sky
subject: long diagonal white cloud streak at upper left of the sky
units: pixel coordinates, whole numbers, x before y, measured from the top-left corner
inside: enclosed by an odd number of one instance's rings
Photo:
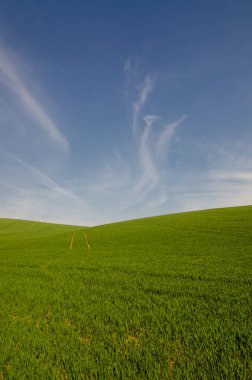
[[[48,115],[39,101],[31,94],[18,71],[11,55],[0,44],[0,80],[17,96],[27,114],[40,126],[50,140],[62,149],[68,150],[69,143],[58,126]]]

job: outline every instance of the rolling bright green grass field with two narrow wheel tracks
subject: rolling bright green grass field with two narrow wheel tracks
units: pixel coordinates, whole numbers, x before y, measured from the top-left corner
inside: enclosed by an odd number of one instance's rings
[[[252,379],[251,256],[252,206],[0,219],[0,380]]]

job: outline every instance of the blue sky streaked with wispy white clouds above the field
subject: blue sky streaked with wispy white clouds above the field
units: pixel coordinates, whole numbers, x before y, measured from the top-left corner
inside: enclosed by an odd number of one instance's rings
[[[0,217],[252,204],[252,3],[0,2]]]

